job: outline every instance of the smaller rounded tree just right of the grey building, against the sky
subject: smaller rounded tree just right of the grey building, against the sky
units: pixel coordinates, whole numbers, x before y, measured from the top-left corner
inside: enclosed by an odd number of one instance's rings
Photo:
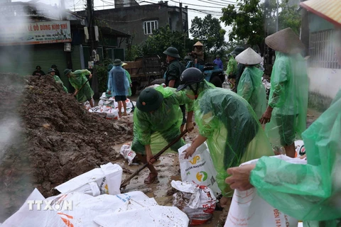
[[[224,35],[226,31],[220,26],[220,21],[212,15],[207,15],[205,18],[195,18],[192,20],[192,30],[190,33],[193,38],[202,40],[205,51],[211,55],[224,50]]]

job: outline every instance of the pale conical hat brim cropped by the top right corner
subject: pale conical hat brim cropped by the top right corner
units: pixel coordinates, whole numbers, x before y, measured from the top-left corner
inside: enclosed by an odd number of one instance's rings
[[[301,6],[341,27],[341,0],[309,0],[301,2]]]

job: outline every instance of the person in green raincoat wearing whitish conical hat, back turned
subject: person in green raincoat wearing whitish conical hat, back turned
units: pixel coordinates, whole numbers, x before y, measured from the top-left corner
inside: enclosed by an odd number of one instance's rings
[[[236,60],[245,65],[245,70],[239,79],[237,94],[249,102],[257,119],[261,119],[266,109],[266,92],[261,82],[263,71],[255,65],[263,59],[254,50],[247,48],[236,57]]]

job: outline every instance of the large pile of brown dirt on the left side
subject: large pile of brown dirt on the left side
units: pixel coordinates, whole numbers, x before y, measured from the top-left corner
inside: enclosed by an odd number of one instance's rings
[[[132,139],[132,123],[90,114],[51,76],[0,74],[0,222],[36,187],[44,196],[112,161]]]

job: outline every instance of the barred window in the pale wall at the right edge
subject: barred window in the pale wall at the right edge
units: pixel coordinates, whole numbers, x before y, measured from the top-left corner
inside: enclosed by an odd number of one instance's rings
[[[310,33],[309,54],[311,66],[340,69],[334,55],[335,51],[332,43],[334,34],[335,30],[333,29]]]

